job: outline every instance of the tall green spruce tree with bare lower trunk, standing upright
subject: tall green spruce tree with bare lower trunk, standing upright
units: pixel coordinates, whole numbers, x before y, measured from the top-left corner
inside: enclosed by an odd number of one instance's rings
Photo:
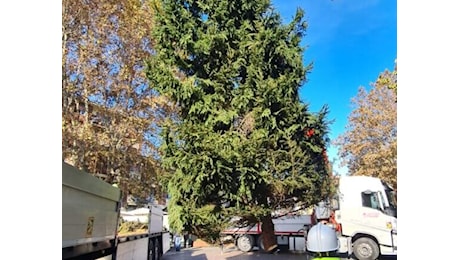
[[[165,0],[155,19],[147,75],[180,109],[163,131],[171,227],[217,235],[237,215],[276,248],[272,212],[328,192],[327,107],[299,98],[303,11],[283,24],[268,0]]]

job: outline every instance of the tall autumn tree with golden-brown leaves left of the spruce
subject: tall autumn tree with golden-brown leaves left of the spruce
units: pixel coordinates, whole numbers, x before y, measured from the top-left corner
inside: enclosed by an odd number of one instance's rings
[[[169,102],[148,87],[152,1],[62,2],[62,156],[117,183],[125,195],[161,195],[158,123]]]

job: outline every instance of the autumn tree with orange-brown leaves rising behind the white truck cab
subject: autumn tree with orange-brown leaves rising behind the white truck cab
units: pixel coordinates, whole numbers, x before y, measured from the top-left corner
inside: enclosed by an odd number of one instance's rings
[[[367,91],[358,89],[344,134],[335,140],[351,175],[379,177],[397,188],[396,67]]]

